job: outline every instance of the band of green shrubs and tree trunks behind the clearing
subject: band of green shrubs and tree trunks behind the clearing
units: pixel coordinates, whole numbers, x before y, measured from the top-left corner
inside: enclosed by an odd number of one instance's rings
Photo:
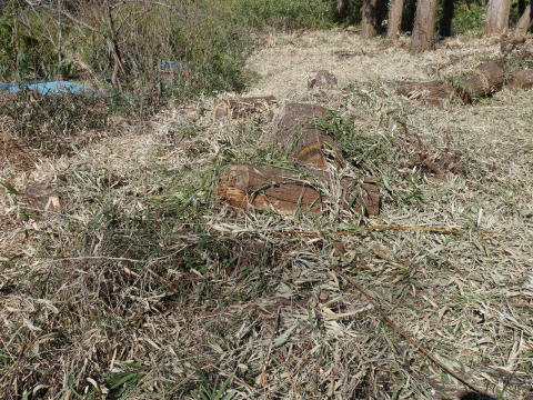
[[[159,104],[240,91],[259,33],[361,24],[363,37],[413,31],[414,51],[440,37],[531,28],[526,0],[8,0],[0,17],[0,80],[98,82]],[[415,19],[419,7],[420,20]],[[529,20],[527,20],[527,18]],[[513,28],[514,29],[514,28]],[[436,34],[435,34],[436,33]],[[161,84],[161,62],[179,73]],[[167,92],[167,93],[163,93]],[[163,101],[164,102],[164,101]]]

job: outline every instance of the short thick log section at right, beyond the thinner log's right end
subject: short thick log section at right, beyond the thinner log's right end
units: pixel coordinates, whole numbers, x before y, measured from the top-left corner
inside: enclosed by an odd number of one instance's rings
[[[459,96],[464,102],[491,96],[503,87],[503,68],[495,62],[484,62],[474,70],[454,80]]]

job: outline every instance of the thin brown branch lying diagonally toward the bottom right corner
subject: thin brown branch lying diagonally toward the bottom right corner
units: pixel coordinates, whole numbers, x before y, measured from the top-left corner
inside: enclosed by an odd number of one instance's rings
[[[400,326],[398,326],[392,319],[390,319],[389,317],[386,317],[385,314],[385,311],[381,308],[381,306],[374,300],[374,298],[366,291],[366,289],[364,289],[361,284],[359,284],[355,279],[349,277],[348,274],[345,274],[343,271],[341,271],[340,269],[336,269],[336,268],[332,268],[332,271],[339,276],[341,276],[342,278],[344,278],[344,280],[346,282],[349,282],[350,284],[352,284],[361,294],[363,294],[366,300],[369,300],[369,302],[374,307],[374,309],[378,311],[379,313],[379,317],[384,321],[386,322],[393,330],[394,332],[396,332],[398,334],[400,334],[401,337],[403,337],[403,339],[405,339],[405,341],[411,344],[412,347],[415,348],[415,350],[418,352],[420,352],[421,354],[423,354],[424,357],[426,357],[428,359],[430,359],[431,361],[433,361],[440,369],[442,369],[444,372],[446,372],[447,374],[452,376],[453,378],[455,378],[456,380],[459,380],[461,383],[463,383],[464,386],[466,386],[469,389],[475,391],[476,393],[482,393],[483,391],[477,388],[474,383],[471,383],[469,382],[469,380],[462,376],[461,373],[459,373],[457,371],[451,369],[450,367],[445,366],[444,363],[442,363],[441,361],[439,361],[439,359],[433,356],[432,352],[430,352],[426,348],[424,348],[419,341],[416,341],[414,338],[412,338],[408,332],[405,332]]]

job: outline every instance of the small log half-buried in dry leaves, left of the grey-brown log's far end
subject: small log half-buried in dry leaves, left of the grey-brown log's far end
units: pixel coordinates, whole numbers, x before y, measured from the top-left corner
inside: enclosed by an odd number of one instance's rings
[[[213,110],[215,121],[244,118],[253,113],[264,112],[272,117],[271,107],[276,103],[273,96],[227,99],[219,102]]]

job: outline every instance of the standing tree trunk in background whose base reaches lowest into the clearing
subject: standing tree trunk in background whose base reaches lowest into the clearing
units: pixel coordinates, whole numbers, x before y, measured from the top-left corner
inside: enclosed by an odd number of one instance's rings
[[[419,0],[414,17],[411,50],[415,53],[431,50],[435,36],[436,0]]]

